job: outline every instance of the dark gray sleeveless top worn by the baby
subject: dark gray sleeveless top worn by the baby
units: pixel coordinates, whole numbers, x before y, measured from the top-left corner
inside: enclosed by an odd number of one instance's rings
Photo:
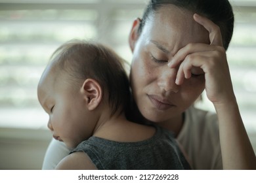
[[[139,142],[116,142],[90,137],[73,152],[85,152],[97,169],[190,169],[173,134],[161,127],[150,139]]]

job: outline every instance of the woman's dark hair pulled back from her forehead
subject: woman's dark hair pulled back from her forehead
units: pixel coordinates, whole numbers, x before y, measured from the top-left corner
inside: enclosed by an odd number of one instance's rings
[[[231,41],[234,28],[234,14],[228,0],[150,0],[144,10],[140,22],[139,34],[141,33],[148,16],[158,12],[165,5],[175,5],[191,12],[205,16],[217,24],[221,29],[223,46],[225,50]]]

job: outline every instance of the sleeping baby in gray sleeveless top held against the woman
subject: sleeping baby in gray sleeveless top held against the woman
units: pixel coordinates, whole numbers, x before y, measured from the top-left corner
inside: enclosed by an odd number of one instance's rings
[[[74,40],[54,52],[37,95],[54,139],[73,149],[56,169],[190,169],[172,133],[125,117],[124,64],[96,42]]]

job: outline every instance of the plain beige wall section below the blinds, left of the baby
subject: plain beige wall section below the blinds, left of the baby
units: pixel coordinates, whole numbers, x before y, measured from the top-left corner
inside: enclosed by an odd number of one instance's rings
[[[0,128],[0,169],[41,169],[51,132]]]

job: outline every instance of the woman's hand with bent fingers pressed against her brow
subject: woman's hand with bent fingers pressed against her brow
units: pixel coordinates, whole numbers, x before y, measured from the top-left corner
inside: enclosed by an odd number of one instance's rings
[[[194,20],[209,32],[210,44],[190,43],[175,54],[168,65],[179,67],[176,84],[181,85],[192,75],[205,75],[205,90],[213,104],[235,101],[219,27],[198,14],[194,14]]]

